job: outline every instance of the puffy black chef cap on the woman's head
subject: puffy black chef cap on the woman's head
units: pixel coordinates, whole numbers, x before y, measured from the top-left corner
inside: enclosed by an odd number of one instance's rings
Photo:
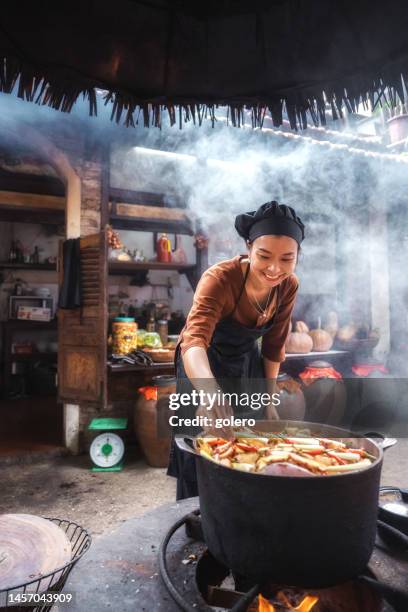
[[[293,208],[275,201],[266,202],[258,210],[235,217],[235,229],[250,242],[259,236],[274,234],[289,236],[300,245],[305,237],[305,226]]]

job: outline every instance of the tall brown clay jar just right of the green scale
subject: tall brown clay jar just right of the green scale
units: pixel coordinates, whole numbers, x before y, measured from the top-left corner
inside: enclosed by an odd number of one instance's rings
[[[169,462],[169,395],[175,391],[174,376],[154,376],[151,385],[139,389],[134,426],[146,461],[152,467],[167,467]]]

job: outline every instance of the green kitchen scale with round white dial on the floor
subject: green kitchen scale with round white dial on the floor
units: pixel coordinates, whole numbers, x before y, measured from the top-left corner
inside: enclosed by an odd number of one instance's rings
[[[122,438],[114,432],[126,428],[126,418],[92,419],[88,430],[103,432],[93,439],[89,448],[89,455],[93,463],[92,472],[120,472],[122,470],[125,444]]]

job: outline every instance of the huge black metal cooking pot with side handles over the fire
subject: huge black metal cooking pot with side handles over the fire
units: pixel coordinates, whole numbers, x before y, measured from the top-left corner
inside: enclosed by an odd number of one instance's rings
[[[376,534],[383,451],[346,430],[295,421],[258,421],[257,430],[310,429],[345,440],[376,457],[365,470],[332,476],[248,474],[196,457],[202,527],[218,561],[256,582],[325,587],[361,573]]]

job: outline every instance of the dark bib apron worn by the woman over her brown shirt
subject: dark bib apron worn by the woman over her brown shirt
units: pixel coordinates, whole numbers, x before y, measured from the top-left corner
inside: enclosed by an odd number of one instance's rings
[[[219,321],[215,327],[210,345],[207,350],[208,361],[211,372],[220,383],[224,393],[229,391],[237,391],[239,381],[245,381],[246,388],[251,379],[265,378],[263,362],[260,355],[257,340],[264,336],[273,326],[275,315],[266,323],[259,327],[247,327],[235,321],[232,317],[241,299],[244,291],[245,283],[249,273],[249,266],[246,270],[245,277],[239,292],[238,298],[234,304],[234,309],[228,317]],[[279,285],[278,299],[276,304],[275,314],[279,307]],[[184,370],[183,360],[179,346],[176,349],[175,367],[177,376],[177,393],[186,393],[193,390],[193,386],[188,380]],[[225,380],[223,380],[225,379]],[[239,379],[233,380],[233,379]],[[228,389],[228,382],[233,385],[233,389]],[[245,382],[244,382],[245,384]],[[257,388],[259,391],[259,387]],[[180,408],[177,414],[180,417],[192,418],[195,414],[196,407],[187,406]],[[243,412],[239,407],[234,408],[234,415],[239,414],[242,417],[262,418],[262,411],[254,413],[251,409]],[[198,435],[202,431],[201,428],[196,428],[194,431],[190,429],[190,435]],[[177,433],[177,432],[174,432]],[[169,467],[167,470],[169,476],[177,478],[177,496],[176,499],[184,499],[186,497],[195,497],[198,495],[197,476],[195,468],[195,458],[192,455],[183,453],[174,444],[171,446]]]

